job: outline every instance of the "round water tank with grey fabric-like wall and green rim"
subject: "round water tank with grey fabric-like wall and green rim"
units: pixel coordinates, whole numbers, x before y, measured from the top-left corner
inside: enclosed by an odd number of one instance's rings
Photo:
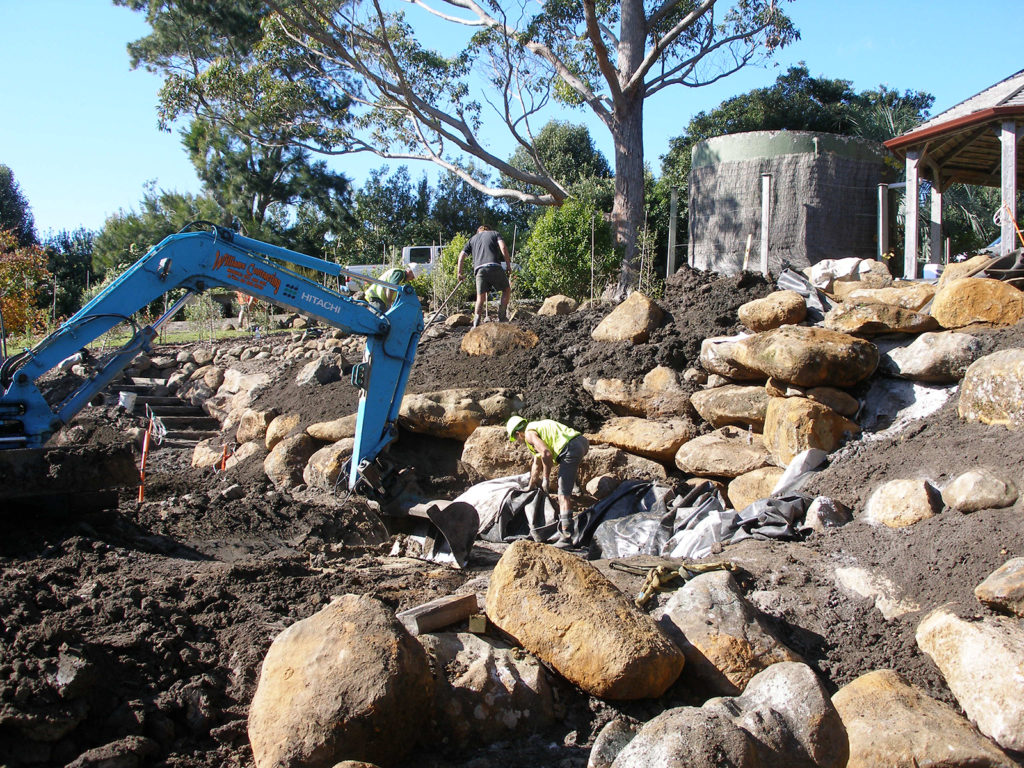
[[[757,131],[693,147],[690,254],[700,269],[760,268],[762,175],[771,174],[768,267],[877,254],[878,185],[891,175],[881,144],[835,134]]]

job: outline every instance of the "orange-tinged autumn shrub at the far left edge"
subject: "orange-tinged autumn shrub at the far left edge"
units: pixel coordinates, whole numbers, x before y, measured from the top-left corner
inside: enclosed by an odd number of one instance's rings
[[[17,232],[0,229],[0,312],[8,334],[30,334],[46,325],[44,288],[52,279],[39,246],[18,244]]]

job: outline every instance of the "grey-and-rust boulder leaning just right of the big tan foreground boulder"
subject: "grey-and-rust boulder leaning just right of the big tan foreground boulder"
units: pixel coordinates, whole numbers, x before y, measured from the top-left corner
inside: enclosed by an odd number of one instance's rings
[[[701,694],[733,696],[770,665],[803,660],[775,637],[727,570],[690,580],[657,615],[686,655],[681,682]]]

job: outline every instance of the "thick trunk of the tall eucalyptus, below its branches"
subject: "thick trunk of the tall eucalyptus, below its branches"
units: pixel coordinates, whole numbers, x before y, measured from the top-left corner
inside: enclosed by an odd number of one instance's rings
[[[611,217],[615,241],[623,249],[623,264],[614,298],[622,300],[636,288],[636,253],[643,224],[643,94],[624,94],[616,104],[611,130],[615,144],[615,202]]]

